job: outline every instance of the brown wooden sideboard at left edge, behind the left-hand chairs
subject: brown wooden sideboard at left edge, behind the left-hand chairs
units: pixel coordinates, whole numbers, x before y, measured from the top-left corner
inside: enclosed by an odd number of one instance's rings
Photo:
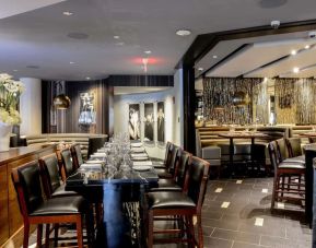
[[[11,180],[12,168],[56,152],[56,145],[33,145],[0,153],[0,246],[23,225],[17,198]]]

